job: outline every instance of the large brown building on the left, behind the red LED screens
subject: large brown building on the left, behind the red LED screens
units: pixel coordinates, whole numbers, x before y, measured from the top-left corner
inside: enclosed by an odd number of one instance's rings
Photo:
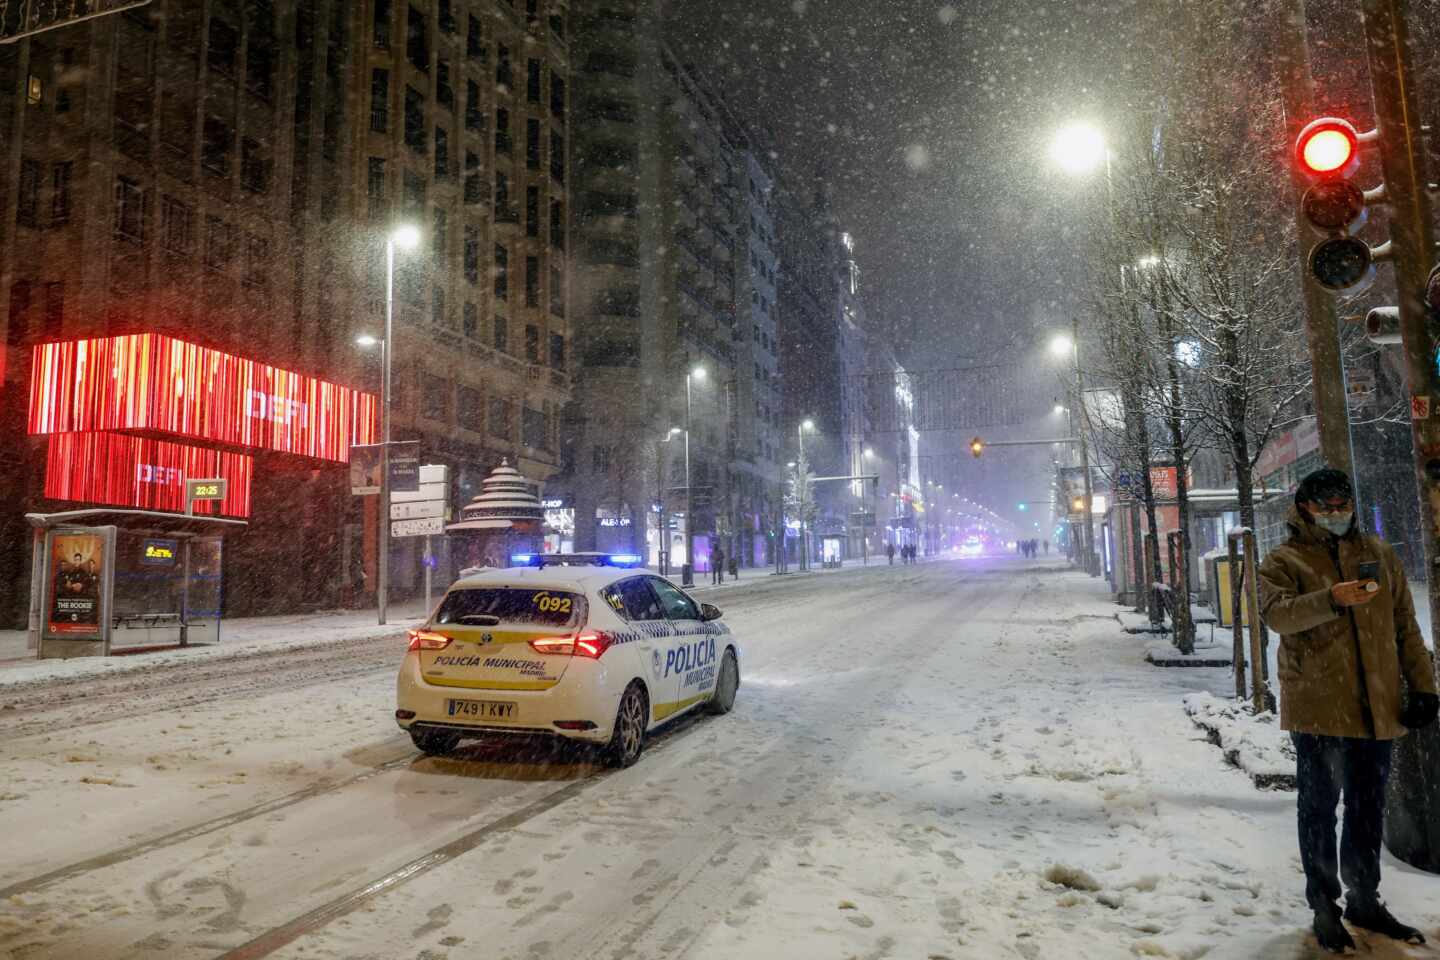
[[[344,461],[374,439],[380,368],[356,337],[382,330],[384,236],[406,220],[425,239],[397,255],[396,439],[454,468],[458,502],[501,456],[553,471],[566,16],[554,0],[156,0],[0,47],[0,538],[24,543],[32,510],[174,508],[181,471],[161,455],[242,463],[243,502],[222,511],[251,522],[229,610],[361,599],[379,518]],[[189,381],[107,430],[45,435],[30,396],[55,399],[46,377],[76,363],[45,344],[81,340],[145,383],[183,357]],[[37,348],[58,364],[43,376]],[[222,394],[215,422],[166,420]],[[400,592],[413,553],[396,543]],[[19,554],[0,557],[9,583]]]

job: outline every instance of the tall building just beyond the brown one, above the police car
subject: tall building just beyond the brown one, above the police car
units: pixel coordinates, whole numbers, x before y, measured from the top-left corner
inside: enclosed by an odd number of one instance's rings
[[[547,497],[573,510],[576,547],[648,545],[678,566],[688,422],[704,570],[716,543],[743,563],[763,556],[778,476],[756,417],[775,409],[775,364],[757,366],[759,317],[737,305],[752,292],[772,302],[773,281],[757,276],[762,253],[766,278],[775,272],[773,235],[749,226],[759,161],[723,101],[665,46],[658,10],[654,0],[575,3],[586,117],[575,147],[577,368],[567,471]],[[773,344],[773,320],[765,337]]]

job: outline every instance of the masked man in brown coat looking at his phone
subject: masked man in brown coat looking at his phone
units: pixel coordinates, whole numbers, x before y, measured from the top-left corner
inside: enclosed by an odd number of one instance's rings
[[[1290,538],[1260,564],[1260,607],[1280,632],[1280,727],[1295,741],[1300,862],[1315,936],[1332,953],[1354,948],[1344,915],[1355,927],[1424,943],[1380,900],[1391,744],[1407,728],[1433,723],[1440,708],[1405,571],[1390,544],[1355,525],[1355,491],[1341,471],[1300,481],[1289,527]]]

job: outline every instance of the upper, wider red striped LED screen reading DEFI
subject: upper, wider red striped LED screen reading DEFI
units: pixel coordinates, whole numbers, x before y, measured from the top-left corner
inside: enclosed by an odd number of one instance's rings
[[[340,463],[377,439],[373,393],[160,334],[37,344],[32,370],[30,433],[154,430]]]

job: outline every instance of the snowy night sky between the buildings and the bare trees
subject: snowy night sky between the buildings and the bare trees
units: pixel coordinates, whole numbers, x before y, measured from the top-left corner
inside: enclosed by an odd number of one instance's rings
[[[857,240],[871,332],[912,368],[1015,361],[1058,436],[1063,389],[1044,347],[1081,309],[1084,225],[1099,183],[1048,157],[1067,121],[1122,111],[1132,4],[1056,0],[667,0],[671,42],[765,117],[791,174],[815,170]],[[1087,206],[1089,204],[1089,206]],[[1048,419],[1047,419],[1048,417]],[[959,453],[969,435],[932,436]],[[952,476],[1015,521],[1048,497],[1050,448],[1014,448]],[[1031,508],[1034,510],[1034,508]],[[1041,514],[1045,515],[1045,514]],[[1038,533],[1037,533],[1038,535]]]

